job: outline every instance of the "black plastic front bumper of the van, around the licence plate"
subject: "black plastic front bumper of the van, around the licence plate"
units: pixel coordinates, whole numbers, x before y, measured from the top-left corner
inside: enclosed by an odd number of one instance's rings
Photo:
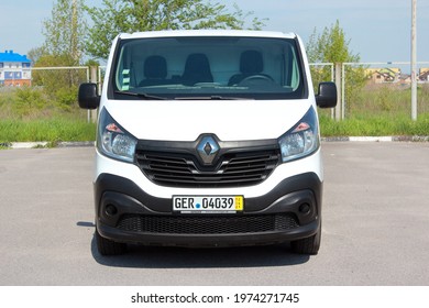
[[[245,198],[233,215],[179,215],[173,201],[143,191],[130,179],[101,174],[95,183],[97,231],[116,242],[168,246],[275,244],[311,237],[321,228],[322,183],[314,173],[280,182]]]

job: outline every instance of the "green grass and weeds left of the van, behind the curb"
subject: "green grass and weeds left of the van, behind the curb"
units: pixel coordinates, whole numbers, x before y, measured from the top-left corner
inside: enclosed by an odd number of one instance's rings
[[[92,141],[96,124],[76,102],[58,103],[42,88],[0,88],[0,145],[11,142]],[[4,146],[3,146],[4,147]]]

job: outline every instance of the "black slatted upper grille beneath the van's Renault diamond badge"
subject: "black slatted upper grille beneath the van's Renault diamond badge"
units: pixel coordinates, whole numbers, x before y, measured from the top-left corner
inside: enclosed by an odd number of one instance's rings
[[[279,162],[277,150],[226,153],[215,167],[201,166],[189,153],[136,152],[152,182],[169,187],[240,187],[262,183]]]

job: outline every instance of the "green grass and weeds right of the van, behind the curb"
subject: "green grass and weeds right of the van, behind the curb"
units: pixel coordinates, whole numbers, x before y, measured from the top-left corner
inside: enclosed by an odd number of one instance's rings
[[[418,88],[418,119],[411,120],[409,85],[367,85],[346,97],[345,119],[334,121],[319,110],[323,136],[429,135],[429,85]]]

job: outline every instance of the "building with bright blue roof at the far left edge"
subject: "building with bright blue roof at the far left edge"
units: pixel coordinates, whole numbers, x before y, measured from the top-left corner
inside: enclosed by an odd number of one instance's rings
[[[0,86],[31,86],[31,61],[13,51],[0,53]]]

